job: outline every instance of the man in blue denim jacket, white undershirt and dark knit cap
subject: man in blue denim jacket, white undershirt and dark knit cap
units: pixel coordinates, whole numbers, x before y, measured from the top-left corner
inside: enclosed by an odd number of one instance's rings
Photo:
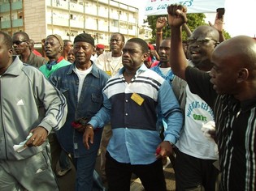
[[[76,167],[76,190],[92,190],[93,170],[102,137],[102,129],[95,129],[94,143],[89,150],[83,144],[87,121],[102,107],[102,88],[108,75],[90,60],[94,49],[92,36],[82,33],[74,40],[76,61],[50,76],[67,99],[67,121],[57,137],[63,149],[72,155]]]

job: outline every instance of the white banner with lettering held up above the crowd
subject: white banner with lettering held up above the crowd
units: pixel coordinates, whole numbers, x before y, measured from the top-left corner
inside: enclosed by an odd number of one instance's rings
[[[145,16],[167,15],[167,6],[175,3],[187,6],[188,13],[215,13],[224,7],[225,0],[147,0]]]

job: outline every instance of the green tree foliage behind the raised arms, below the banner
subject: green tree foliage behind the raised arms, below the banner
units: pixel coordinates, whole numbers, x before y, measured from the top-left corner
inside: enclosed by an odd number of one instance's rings
[[[158,19],[158,17],[167,17],[167,15],[152,15],[152,16],[148,16],[147,19],[144,22],[148,22],[150,25],[150,28],[152,28],[152,39],[150,40],[150,43],[154,44],[155,43],[155,36],[156,36],[156,21]],[[195,28],[197,28],[198,26],[201,25],[208,25],[208,23],[205,23],[204,19],[206,18],[206,15],[204,15],[203,13],[193,13],[193,14],[187,14],[187,18],[188,18],[188,27],[190,29],[191,32],[193,32],[193,30]],[[165,28],[163,28],[163,39],[170,37],[171,36],[171,30],[170,27],[167,25]],[[231,36],[228,34],[228,32],[224,31],[224,36],[226,39],[231,38]],[[182,38],[183,40],[187,38],[187,34],[183,31],[182,32]]]

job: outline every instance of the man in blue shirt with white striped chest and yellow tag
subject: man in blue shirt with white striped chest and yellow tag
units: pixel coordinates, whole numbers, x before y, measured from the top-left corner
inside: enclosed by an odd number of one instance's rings
[[[147,51],[145,40],[127,41],[124,67],[106,83],[104,106],[85,130],[84,143],[89,148],[93,129],[111,121],[113,135],[106,153],[109,190],[130,190],[132,173],[141,179],[145,190],[166,190],[161,158],[171,155],[183,117],[170,84],[144,65]],[[163,142],[156,127],[159,110],[168,126]]]

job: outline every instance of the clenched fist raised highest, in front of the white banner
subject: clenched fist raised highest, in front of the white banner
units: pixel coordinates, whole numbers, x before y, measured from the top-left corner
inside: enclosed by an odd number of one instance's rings
[[[167,6],[168,11],[168,23],[172,28],[180,28],[184,23],[187,23],[186,17],[187,8],[185,6],[171,4]]]

